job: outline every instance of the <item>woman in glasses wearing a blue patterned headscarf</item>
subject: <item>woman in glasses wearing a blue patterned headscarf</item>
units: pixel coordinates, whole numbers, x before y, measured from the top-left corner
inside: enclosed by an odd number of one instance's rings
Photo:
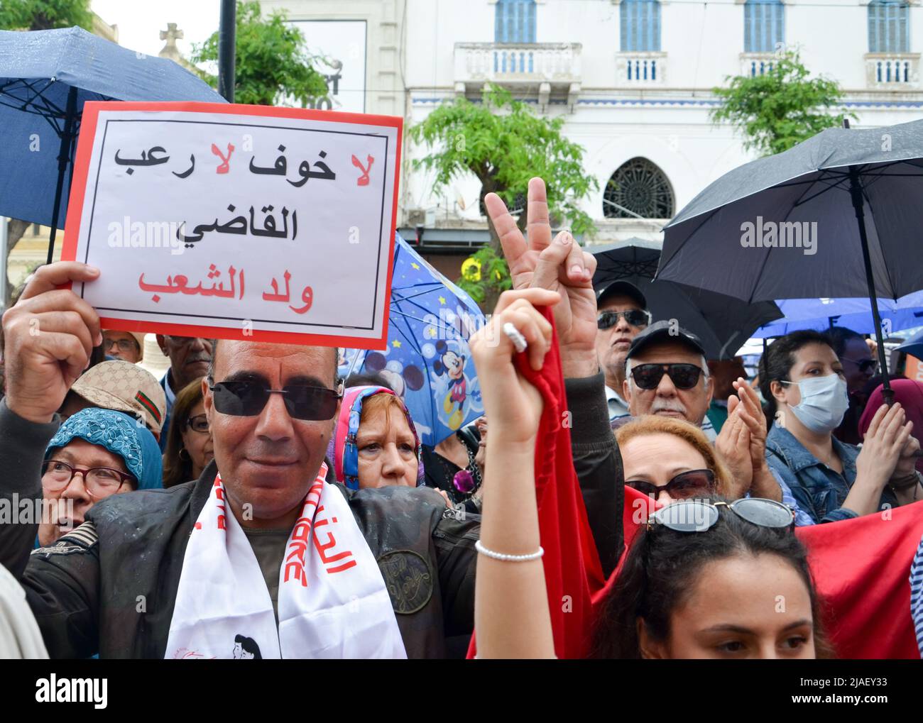
[[[162,487],[161,449],[144,426],[112,409],[81,409],[61,425],[42,462],[42,547],[110,497]]]

